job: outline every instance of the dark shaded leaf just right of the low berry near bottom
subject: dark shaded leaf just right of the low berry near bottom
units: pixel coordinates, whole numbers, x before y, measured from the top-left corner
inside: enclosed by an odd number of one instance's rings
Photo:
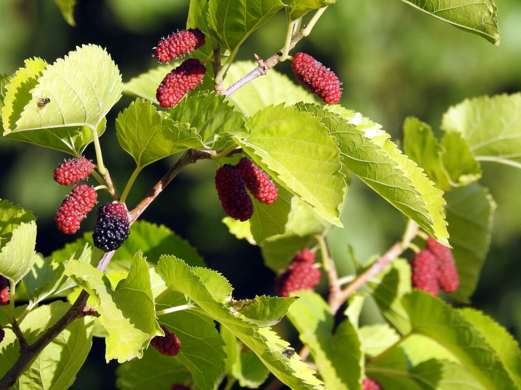
[[[173,299],[172,299],[173,298]],[[157,302],[157,309],[187,304],[180,293],[167,294]],[[225,369],[224,342],[214,321],[192,310],[176,311],[159,317],[159,323],[173,332],[181,342],[176,359],[192,374],[201,390],[213,390]]]

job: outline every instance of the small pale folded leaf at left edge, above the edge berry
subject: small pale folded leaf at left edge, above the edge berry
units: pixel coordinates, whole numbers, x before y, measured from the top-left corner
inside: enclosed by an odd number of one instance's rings
[[[0,275],[5,276],[11,284],[18,283],[32,268],[36,261],[34,246],[36,245],[36,224],[21,223],[15,230],[11,240],[4,245],[0,253]]]

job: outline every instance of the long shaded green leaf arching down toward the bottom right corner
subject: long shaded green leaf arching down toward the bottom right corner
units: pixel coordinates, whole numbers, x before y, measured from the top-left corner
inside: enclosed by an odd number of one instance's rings
[[[411,320],[411,331],[450,350],[483,387],[516,389],[498,355],[458,311],[421,290],[404,295],[402,302]]]

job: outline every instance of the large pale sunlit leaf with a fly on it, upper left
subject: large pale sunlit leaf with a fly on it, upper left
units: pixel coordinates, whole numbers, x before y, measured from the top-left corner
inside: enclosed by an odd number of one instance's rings
[[[105,115],[121,97],[121,76],[116,64],[99,46],[83,45],[41,71],[38,84],[24,87],[21,95],[9,93],[6,102],[21,113],[4,109],[4,136],[79,156],[101,135]],[[19,84],[15,77],[11,84]],[[42,98],[51,101],[39,106]],[[16,121],[16,124],[14,123]]]

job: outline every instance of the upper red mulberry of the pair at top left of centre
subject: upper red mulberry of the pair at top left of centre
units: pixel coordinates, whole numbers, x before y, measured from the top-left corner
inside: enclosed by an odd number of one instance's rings
[[[192,53],[195,49],[204,46],[204,33],[199,29],[188,29],[172,33],[159,41],[155,57],[161,62]]]

